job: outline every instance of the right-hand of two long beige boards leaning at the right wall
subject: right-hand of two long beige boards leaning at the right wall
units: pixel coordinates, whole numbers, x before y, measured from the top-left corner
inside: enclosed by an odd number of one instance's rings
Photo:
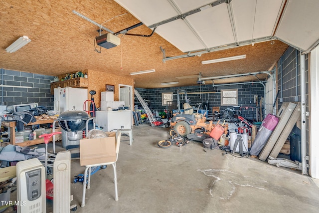
[[[298,103],[292,116],[290,117],[289,121],[287,122],[284,130],[282,131],[281,135],[279,136],[278,140],[276,141],[276,144],[275,144],[275,146],[274,146],[274,148],[271,151],[269,156],[271,156],[273,158],[277,158],[280,150],[283,148],[289,134],[293,130],[300,115],[301,115],[301,107],[300,107],[300,103]]]

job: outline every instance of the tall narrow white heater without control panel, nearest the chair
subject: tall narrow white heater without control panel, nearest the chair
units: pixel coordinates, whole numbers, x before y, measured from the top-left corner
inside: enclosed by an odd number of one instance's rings
[[[59,152],[53,164],[53,213],[70,212],[71,193],[71,153]],[[75,206],[76,207],[76,206]],[[73,207],[74,208],[74,207]]]

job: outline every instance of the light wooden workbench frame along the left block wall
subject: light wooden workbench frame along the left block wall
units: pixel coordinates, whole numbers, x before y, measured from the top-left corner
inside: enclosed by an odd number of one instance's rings
[[[38,125],[38,124],[51,124],[53,123],[55,119],[41,119],[41,120],[37,120],[36,122],[33,123],[28,123],[25,126],[30,126],[30,125]],[[12,145],[18,145],[21,147],[25,147],[25,146],[32,146],[32,145],[36,145],[36,144],[42,144],[44,143],[43,138],[37,138],[34,139],[32,141],[24,141],[23,143],[18,143],[15,144],[15,121],[2,121],[2,125],[6,126],[8,128],[10,128],[10,144]],[[52,137],[49,139],[49,141],[52,141]]]

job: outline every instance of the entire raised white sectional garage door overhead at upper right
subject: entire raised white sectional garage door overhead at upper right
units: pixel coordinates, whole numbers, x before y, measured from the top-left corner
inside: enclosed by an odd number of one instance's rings
[[[214,2],[115,1],[147,26]],[[284,2],[287,3],[282,12]],[[156,32],[183,52],[272,35],[294,47],[309,50],[319,42],[318,12],[319,0],[231,0],[229,4],[221,3],[186,16],[186,23],[179,19],[162,24]]]

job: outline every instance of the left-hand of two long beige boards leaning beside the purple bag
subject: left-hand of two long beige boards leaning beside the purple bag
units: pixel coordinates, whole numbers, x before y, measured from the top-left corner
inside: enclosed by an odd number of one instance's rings
[[[295,103],[288,103],[284,102],[283,105],[280,107],[277,117],[279,117],[279,122],[270,135],[266,145],[264,146],[263,150],[259,154],[259,160],[266,161],[268,158],[271,150],[275,146],[278,138],[280,137],[280,134],[284,130],[288,120],[290,119],[291,115],[294,112],[294,109],[296,108],[297,104]]]

